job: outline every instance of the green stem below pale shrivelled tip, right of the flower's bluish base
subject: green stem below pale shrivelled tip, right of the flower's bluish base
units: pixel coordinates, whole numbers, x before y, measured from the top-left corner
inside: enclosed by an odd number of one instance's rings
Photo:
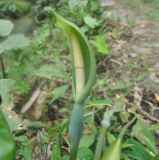
[[[97,147],[96,147],[96,150],[95,150],[94,160],[101,160],[101,153],[102,153],[102,148],[103,148],[104,141],[105,141],[106,130],[107,130],[107,128],[104,127],[104,126],[101,128],[98,143],[97,143]]]

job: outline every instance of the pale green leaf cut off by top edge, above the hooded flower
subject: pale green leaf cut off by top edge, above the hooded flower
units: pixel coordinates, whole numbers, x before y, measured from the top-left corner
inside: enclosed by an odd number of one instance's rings
[[[68,5],[70,8],[74,7],[85,7],[88,3],[88,0],[68,0]]]

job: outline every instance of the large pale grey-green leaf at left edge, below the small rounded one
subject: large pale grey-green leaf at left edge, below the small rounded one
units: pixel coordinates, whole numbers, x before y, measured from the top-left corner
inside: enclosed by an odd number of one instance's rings
[[[7,50],[22,48],[28,45],[29,39],[26,38],[23,34],[14,34],[0,43],[0,54]]]

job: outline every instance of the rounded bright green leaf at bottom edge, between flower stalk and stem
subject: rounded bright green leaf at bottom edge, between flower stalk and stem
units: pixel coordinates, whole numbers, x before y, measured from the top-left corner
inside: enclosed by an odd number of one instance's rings
[[[93,159],[93,153],[92,151],[87,147],[81,147],[78,149],[77,153],[77,160],[92,160]]]

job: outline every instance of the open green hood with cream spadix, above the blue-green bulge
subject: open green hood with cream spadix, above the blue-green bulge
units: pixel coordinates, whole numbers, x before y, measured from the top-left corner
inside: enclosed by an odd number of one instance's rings
[[[96,62],[88,40],[73,23],[59,16],[54,10],[47,8],[46,13],[54,17],[56,23],[65,31],[71,48],[73,69],[73,92],[75,102],[83,103],[88,97],[95,82]]]

